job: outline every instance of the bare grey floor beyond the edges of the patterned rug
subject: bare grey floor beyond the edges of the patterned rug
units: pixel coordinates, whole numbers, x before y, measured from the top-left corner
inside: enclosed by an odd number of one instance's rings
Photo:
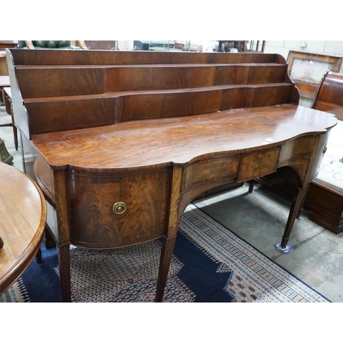
[[[4,122],[10,122],[10,116],[0,106],[0,123]],[[22,169],[20,146],[16,151],[12,128],[1,127],[0,138],[14,158],[13,166]],[[289,200],[261,185],[248,193],[244,185],[196,204],[322,295],[343,303],[343,233],[335,235],[311,222],[304,211],[289,239],[294,250],[285,255],[276,251],[274,244],[281,241]]]

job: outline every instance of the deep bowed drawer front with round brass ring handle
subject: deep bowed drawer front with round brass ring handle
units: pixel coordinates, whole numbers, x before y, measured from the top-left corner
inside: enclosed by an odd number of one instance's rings
[[[164,233],[169,169],[115,176],[71,171],[67,188],[72,244],[115,248]]]

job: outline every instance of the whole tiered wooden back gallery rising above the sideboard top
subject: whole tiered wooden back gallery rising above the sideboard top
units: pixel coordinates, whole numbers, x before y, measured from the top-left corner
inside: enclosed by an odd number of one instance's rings
[[[11,54],[19,88],[14,94],[27,111],[25,115],[17,109],[21,117],[16,122],[27,137],[298,101],[285,60],[274,54],[67,50]]]

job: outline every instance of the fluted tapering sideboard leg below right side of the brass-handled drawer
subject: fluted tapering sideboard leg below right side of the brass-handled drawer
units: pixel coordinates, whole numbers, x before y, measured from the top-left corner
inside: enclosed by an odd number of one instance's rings
[[[163,299],[163,293],[165,291],[165,283],[167,282],[167,276],[169,272],[171,256],[173,255],[175,241],[176,241],[176,237],[170,238],[170,239],[164,238],[164,241],[163,241],[160,268],[158,270],[158,280],[157,280],[157,287],[156,287],[156,296],[155,296],[156,303],[161,303]]]

